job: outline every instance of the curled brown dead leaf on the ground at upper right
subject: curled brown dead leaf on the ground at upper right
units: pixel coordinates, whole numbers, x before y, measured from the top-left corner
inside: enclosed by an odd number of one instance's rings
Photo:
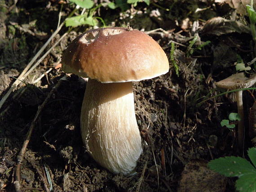
[[[248,26],[244,25],[238,21],[230,21],[222,17],[213,17],[209,19],[202,30],[203,34],[211,35],[224,35],[229,33],[251,33],[251,30]]]

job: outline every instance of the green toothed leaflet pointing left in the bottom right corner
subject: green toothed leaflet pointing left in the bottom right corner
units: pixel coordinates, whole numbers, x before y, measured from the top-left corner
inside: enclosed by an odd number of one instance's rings
[[[244,174],[255,173],[256,169],[242,157],[221,157],[208,163],[208,167],[227,177],[240,177]]]

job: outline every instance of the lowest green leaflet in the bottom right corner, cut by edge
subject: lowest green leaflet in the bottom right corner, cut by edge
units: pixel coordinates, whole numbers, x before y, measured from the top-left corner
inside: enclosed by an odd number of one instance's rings
[[[240,192],[256,192],[256,173],[248,173],[239,177],[235,187]]]

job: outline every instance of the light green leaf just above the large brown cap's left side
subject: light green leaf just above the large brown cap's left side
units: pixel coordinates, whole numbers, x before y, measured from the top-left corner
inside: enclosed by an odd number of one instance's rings
[[[98,24],[97,19],[92,16],[85,17],[85,15],[79,15],[66,19],[66,26],[80,26],[80,25],[96,26]]]

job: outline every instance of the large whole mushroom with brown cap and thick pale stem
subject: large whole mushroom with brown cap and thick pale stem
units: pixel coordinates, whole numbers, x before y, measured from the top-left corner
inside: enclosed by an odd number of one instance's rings
[[[163,49],[130,27],[99,28],[71,42],[63,54],[62,69],[89,78],[80,118],[88,153],[112,173],[136,173],[142,147],[132,81],[168,72]]]

